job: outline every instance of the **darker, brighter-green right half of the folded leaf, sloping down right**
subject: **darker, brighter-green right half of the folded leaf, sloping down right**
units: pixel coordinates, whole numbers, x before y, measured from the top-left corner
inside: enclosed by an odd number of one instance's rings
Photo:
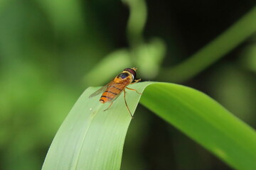
[[[148,86],[141,103],[235,169],[256,169],[256,133],[206,94],[177,84]]]

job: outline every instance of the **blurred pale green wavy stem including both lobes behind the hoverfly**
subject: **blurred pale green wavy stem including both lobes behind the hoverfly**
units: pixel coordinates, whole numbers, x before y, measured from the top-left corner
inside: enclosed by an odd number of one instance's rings
[[[166,45],[160,38],[151,38],[144,42],[143,30],[146,23],[146,2],[144,0],[123,0],[129,8],[127,23],[127,40],[129,48],[115,50],[106,55],[97,65],[85,75],[90,86],[100,86],[111,79],[114,74],[125,67],[139,68],[139,74],[145,79],[153,79],[159,72],[161,62],[166,54]],[[120,64],[116,64],[117,61]],[[111,71],[105,72],[111,68]],[[104,74],[102,79],[94,79],[99,74]],[[87,86],[89,86],[87,84]]]

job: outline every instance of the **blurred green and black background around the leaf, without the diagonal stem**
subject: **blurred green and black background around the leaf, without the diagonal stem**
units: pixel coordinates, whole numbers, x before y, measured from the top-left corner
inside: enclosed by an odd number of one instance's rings
[[[107,84],[125,67],[137,67],[144,81],[203,91],[256,128],[255,34],[196,75],[166,71],[254,6],[253,0],[1,0],[0,170],[41,169],[82,91]],[[139,106],[135,117],[122,170],[230,169],[146,108]]]

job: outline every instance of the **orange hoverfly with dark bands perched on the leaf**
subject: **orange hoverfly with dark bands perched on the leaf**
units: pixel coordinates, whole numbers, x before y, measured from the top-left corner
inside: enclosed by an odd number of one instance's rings
[[[124,103],[127,106],[127,109],[132,116],[131,111],[129,110],[129,107],[127,105],[127,101],[125,99],[125,89],[129,89],[132,91],[136,91],[139,93],[136,89],[130,89],[127,86],[129,84],[135,84],[141,79],[136,79],[136,70],[137,68],[126,68],[124,71],[117,75],[117,77],[114,78],[114,80],[110,81],[109,84],[106,86],[102,86],[99,90],[95,91],[93,94],[89,96],[89,98],[97,96],[98,94],[102,93],[102,96],[100,97],[101,103],[111,102],[110,106],[106,108],[104,111],[107,111],[112,106],[112,103],[114,102],[117,97],[122,94],[122,91],[124,91]],[[132,116],[133,118],[133,116]]]

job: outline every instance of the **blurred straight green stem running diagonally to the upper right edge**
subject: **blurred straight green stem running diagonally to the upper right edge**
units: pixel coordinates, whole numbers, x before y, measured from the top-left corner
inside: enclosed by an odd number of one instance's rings
[[[211,41],[189,57],[187,60],[175,67],[169,69],[161,69],[159,80],[181,82],[191,79],[196,74],[203,71],[228,52],[240,45],[256,31],[256,6],[254,6],[239,21],[230,26],[228,30],[219,35],[215,40]]]

